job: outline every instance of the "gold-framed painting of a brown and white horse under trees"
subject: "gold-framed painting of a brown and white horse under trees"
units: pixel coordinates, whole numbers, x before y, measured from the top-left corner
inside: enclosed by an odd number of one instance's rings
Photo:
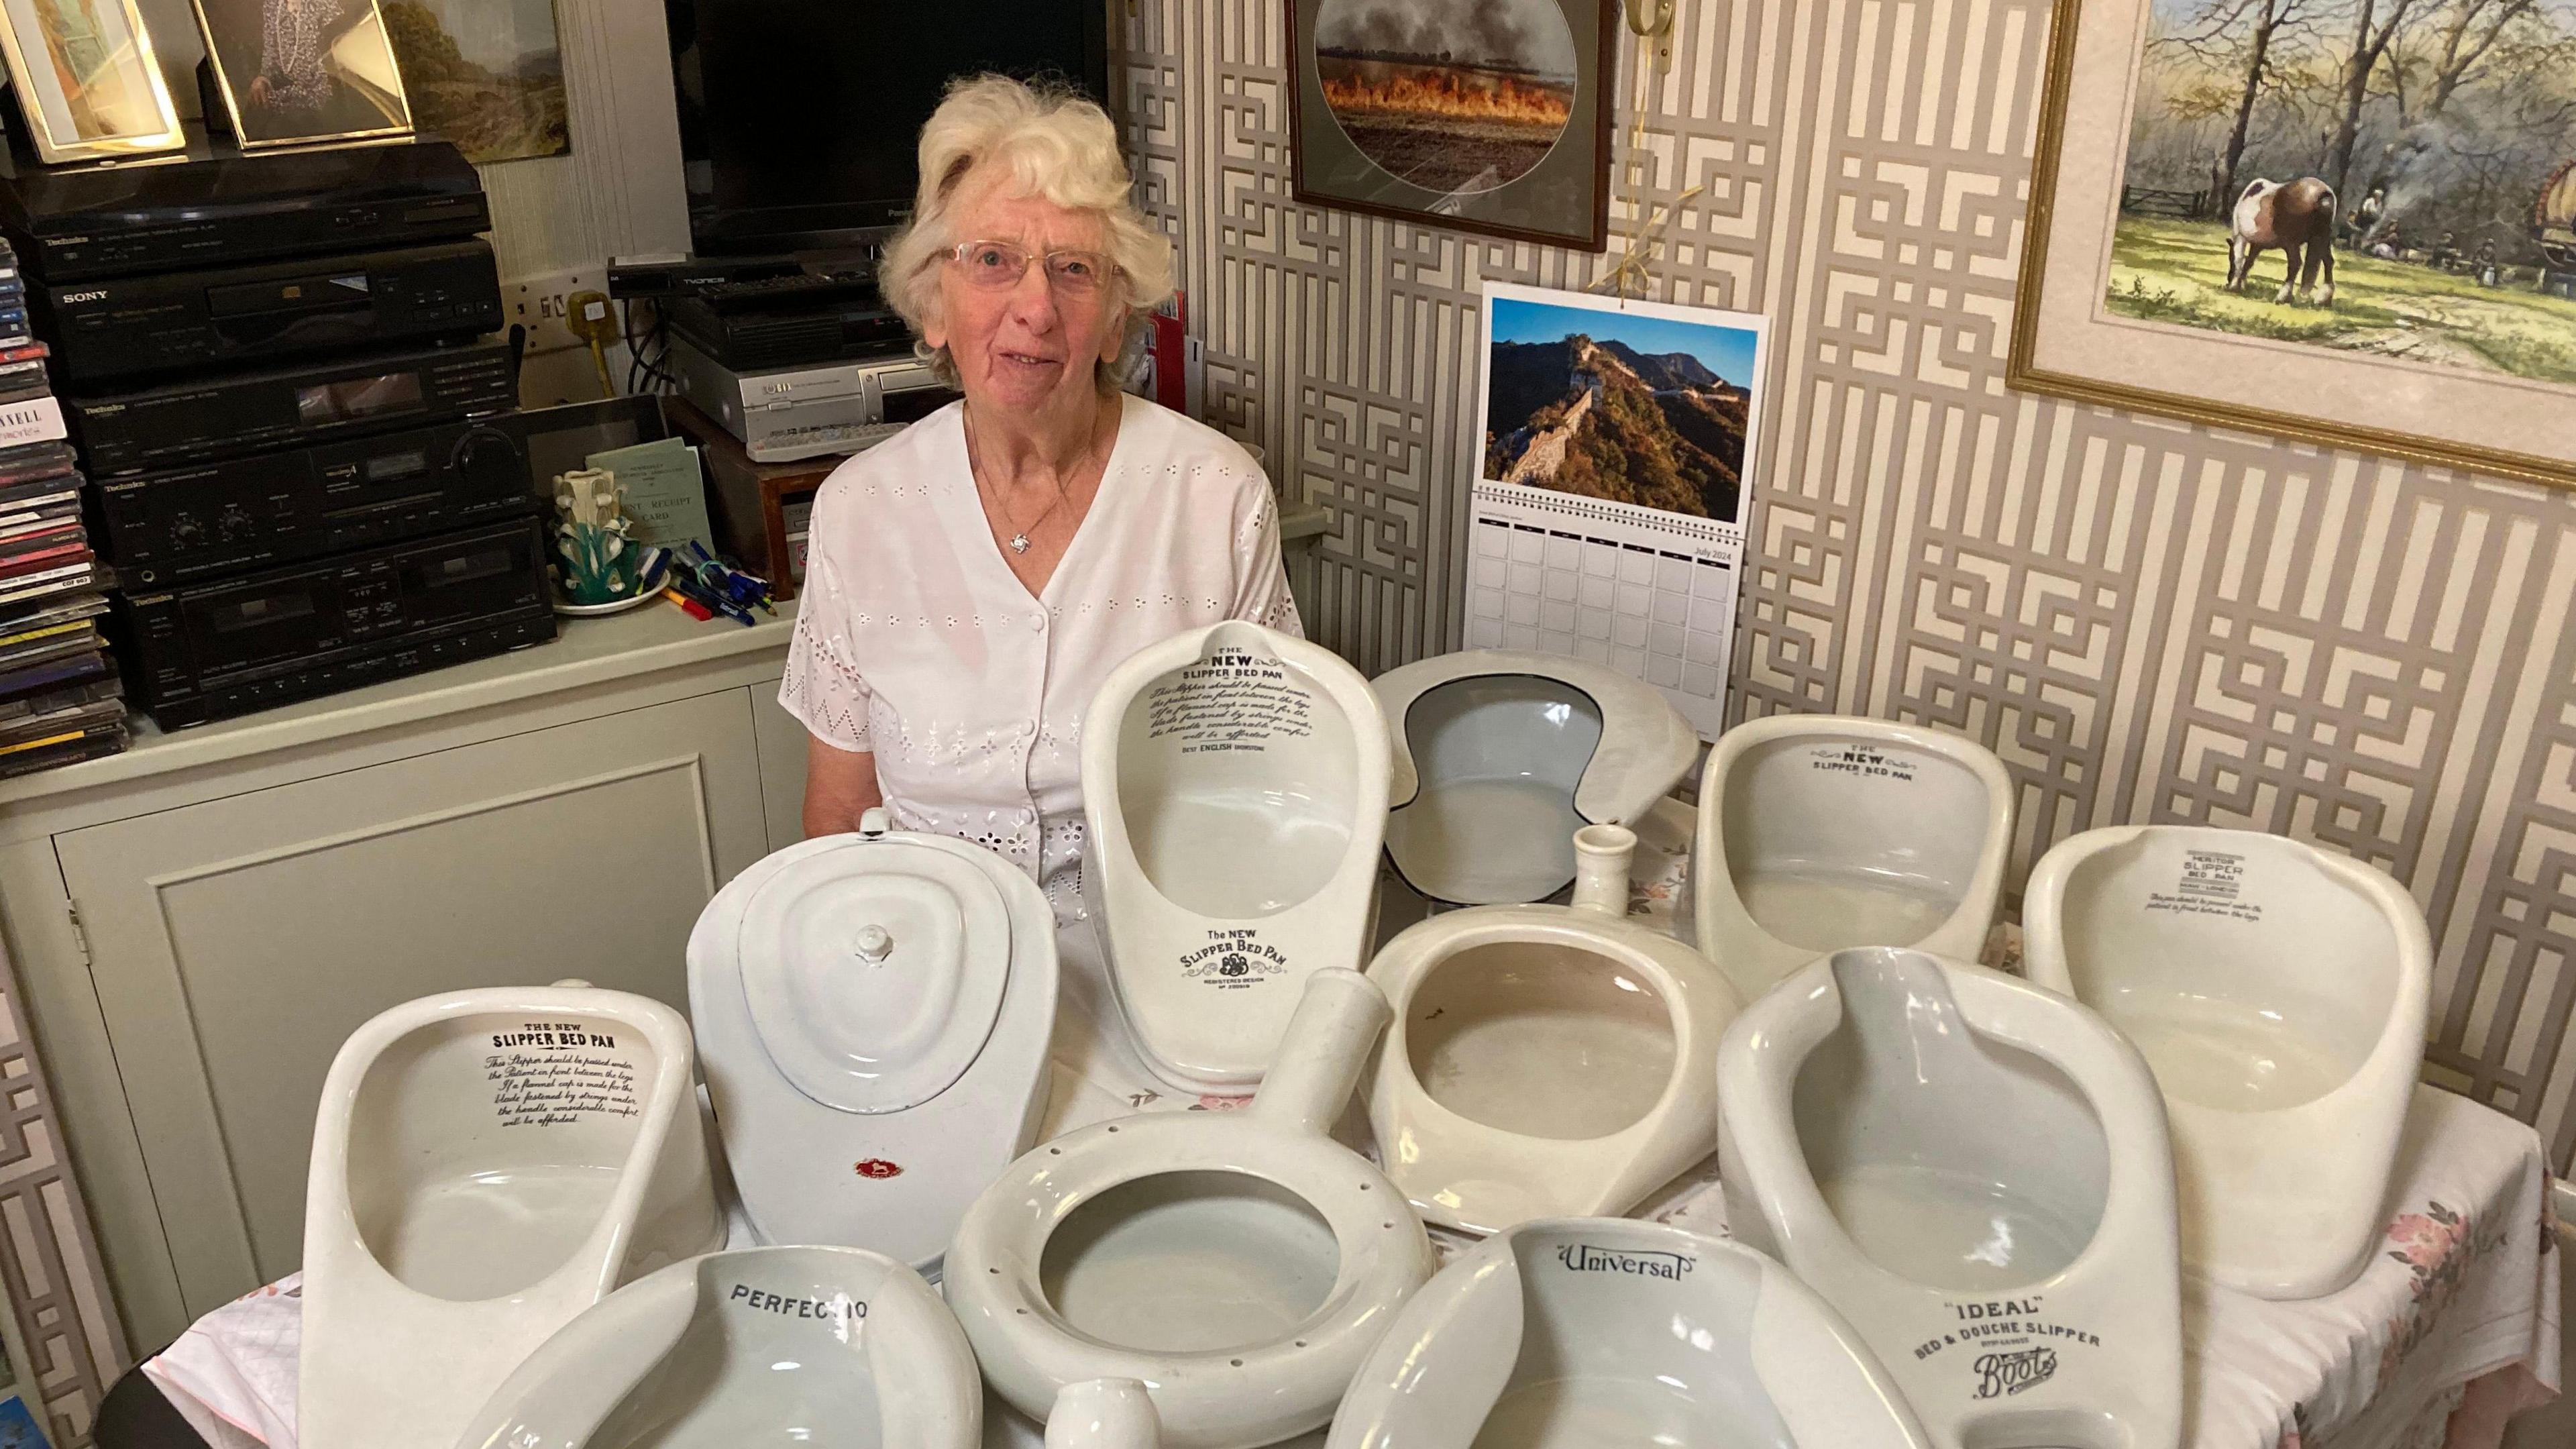
[[[2087,0],[2009,382],[2576,485],[2576,0]]]

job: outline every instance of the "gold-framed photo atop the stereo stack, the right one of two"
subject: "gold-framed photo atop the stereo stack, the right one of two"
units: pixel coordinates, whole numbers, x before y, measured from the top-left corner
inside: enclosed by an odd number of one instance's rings
[[[193,0],[242,150],[412,131],[376,0]]]

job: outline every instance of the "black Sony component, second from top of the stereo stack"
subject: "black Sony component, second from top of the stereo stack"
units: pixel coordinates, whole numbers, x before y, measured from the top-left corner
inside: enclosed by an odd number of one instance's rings
[[[500,271],[482,240],[44,284],[28,297],[72,387],[500,330]]]

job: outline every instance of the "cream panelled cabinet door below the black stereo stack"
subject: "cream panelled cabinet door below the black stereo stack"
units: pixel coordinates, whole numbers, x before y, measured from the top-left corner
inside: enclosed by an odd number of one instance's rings
[[[304,1258],[322,1075],[368,1016],[582,977],[688,1008],[768,846],[742,688],[57,835],[188,1312]]]

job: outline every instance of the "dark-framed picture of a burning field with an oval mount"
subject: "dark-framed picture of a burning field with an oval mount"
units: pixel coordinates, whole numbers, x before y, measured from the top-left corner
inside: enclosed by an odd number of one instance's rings
[[[1602,250],[1615,0],[1288,0],[1298,201]]]

